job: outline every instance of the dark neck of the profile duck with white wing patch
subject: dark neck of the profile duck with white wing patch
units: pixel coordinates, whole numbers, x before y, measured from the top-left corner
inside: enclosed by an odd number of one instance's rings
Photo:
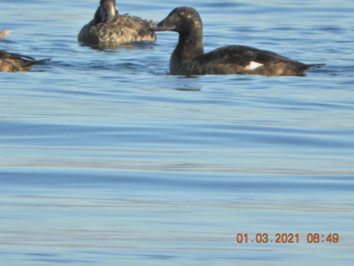
[[[192,60],[204,54],[202,29],[179,33],[178,44],[172,55],[181,61]]]

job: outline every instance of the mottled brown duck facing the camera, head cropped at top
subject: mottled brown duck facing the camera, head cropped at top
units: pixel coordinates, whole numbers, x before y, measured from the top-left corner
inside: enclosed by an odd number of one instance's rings
[[[155,33],[148,31],[154,24],[152,20],[146,21],[128,14],[119,15],[115,0],[101,0],[93,20],[79,32],[78,41],[98,46],[155,41]]]

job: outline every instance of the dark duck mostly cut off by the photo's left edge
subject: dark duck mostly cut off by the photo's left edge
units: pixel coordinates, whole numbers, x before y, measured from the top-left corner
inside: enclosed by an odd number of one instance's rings
[[[1,31],[0,41],[11,31]],[[0,50],[0,72],[29,71],[34,65],[44,63],[50,59],[35,60],[27,55],[12,54]]]

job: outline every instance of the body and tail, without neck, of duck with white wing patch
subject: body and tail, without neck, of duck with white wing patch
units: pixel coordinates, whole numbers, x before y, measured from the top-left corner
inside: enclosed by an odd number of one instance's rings
[[[307,65],[274,52],[241,45],[224,46],[188,60],[183,60],[186,57],[175,54],[179,53],[174,51],[170,59],[172,75],[303,76],[308,68],[323,66],[323,64]]]

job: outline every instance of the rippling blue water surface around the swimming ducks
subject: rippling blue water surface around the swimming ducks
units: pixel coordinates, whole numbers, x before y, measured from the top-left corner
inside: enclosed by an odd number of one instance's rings
[[[52,57],[0,73],[0,264],[353,265],[353,1],[117,3],[193,6],[205,51],[326,63],[306,77],[171,76],[172,32],[81,46],[97,5],[0,2],[1,49]]]

